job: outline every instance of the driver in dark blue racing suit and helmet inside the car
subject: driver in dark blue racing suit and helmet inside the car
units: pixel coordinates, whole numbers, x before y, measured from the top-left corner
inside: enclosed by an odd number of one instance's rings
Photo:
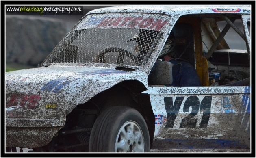
[[[181,59],[181,56],[186,50],[186,42],[180,42],[179,45],[184,45],[182,47],[183,50],[177,49],[174,32],[171,32],[160,54],[164,61],[169,61],[173,64],[173,82],[171,86],[201,86],[195,67],[188,61]]]

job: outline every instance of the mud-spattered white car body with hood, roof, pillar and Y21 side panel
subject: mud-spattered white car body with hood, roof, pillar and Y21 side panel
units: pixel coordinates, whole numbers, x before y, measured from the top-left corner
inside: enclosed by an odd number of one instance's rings
[[[125,17],[139,17],[138,24],[134,24],[133,28],[141,29],[143,26],[143,29],[161,31],[163,40],[159,40],[145,65],[45,62],[39,68],[6,73],[6,147],[35,148],[48,144],[63,128],[66,116],[77,105],[86,103],[117,84],[134,80],[146,89],[140,93],[150,96],[155,117],[152,149],[250,149],[249,86],[148,85],[150,70],[174,24],[182,15],[204,14],[239,14],[243,24],[246,24],[250,18],[250,7],[117,6],[87,13],[73,31],[126,29],[128,23],[121,25]],[[119,20],[119,23],[111,26],[106,22],[101,24],[104,18],[110,17]],[[162,21],[140,26],[139,22],[146,18],[153,18],[154,22],[157,19]],[[245,35],[250,43],[249,33]],[[128,67],[135,71],[116,70],[116,67]],[[174,104],[177,106],[175,109]],[[187,104],[194,106],[186,108]],[[172,116],[169,116],[168,110]],[[192,110],[195,115],[191,117],[191,124],[182,123],[182,120],[189,120]],[[169,117],[174,119],[170,121]]]

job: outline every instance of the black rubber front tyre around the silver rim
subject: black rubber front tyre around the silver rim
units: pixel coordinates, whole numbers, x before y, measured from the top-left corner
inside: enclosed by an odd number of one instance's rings
[[[113,106],[98,116],[91,130],[89,152],[117,152],[115,144],[118,132],[128,121],[139,125],[145,143],[144,152],[150,152],[150,136],[143,116],[134,108],[126,106]]]

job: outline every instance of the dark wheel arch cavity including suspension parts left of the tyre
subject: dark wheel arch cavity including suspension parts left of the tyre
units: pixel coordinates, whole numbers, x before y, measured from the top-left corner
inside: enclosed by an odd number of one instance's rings
[[[150,147],[152,147],[155,117],[150,102],[150,96],[141,93],[145,90],[147,90],[145,85],[138,80],[124,80],[119,82],[93,96],[87,102],[76,105],[67,115],[63,130],[68,130],[71,126],[92,128],[99,114],[105,109],[112,106],[129,106],[137,110],[145,119],[150,135]],[[80,117],[81,113],[79,109],[86,110],[87,114]]]

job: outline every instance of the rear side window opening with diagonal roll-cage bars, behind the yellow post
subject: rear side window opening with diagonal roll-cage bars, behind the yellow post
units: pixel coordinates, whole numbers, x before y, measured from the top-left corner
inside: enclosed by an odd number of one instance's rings
[[[234,26],[231,27],[228,21]],[[249,86],[249,60],[243,27],[241,17],[223,15],[218,19],[202,19],[203,54],[208,59],[209,86]],[[223,37],[216,42],[219,36]],[[208,54],[212,48],[215,48],[212,54]]]

